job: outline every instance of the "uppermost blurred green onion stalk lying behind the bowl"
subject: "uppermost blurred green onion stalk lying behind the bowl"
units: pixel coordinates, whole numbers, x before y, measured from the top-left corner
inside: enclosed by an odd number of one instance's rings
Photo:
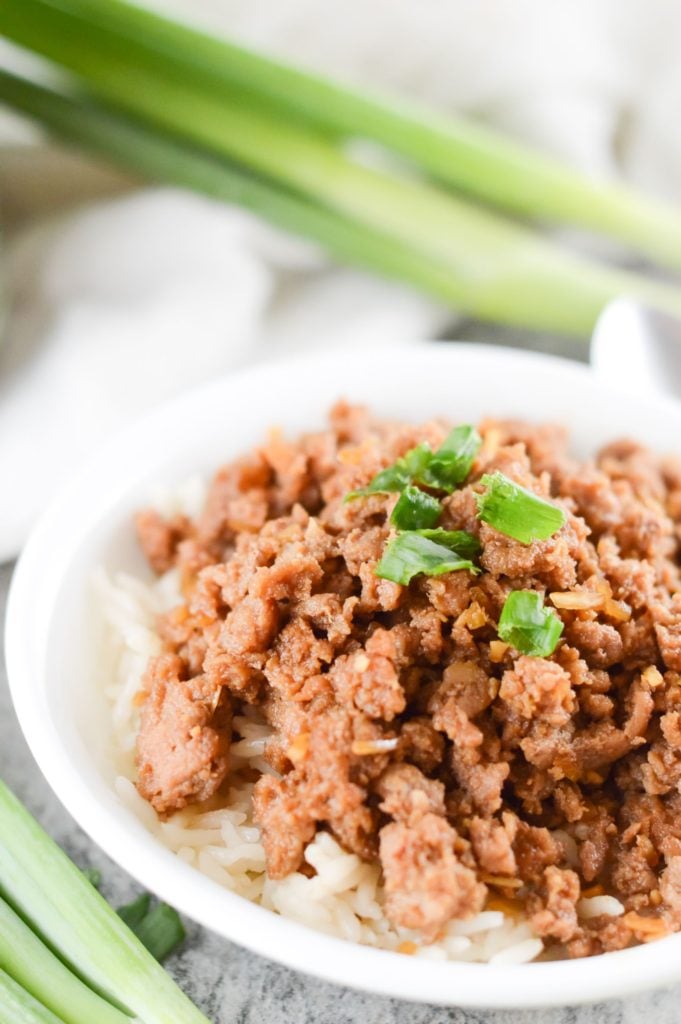
[[[20,6],[27,18],[51,10],[56,20],[70,18],[76,31],[80,25],[86,37],[109,34],[140,66],[198,85],[218,102],[235,94],[259,97],[289,120],[375,140],[485,203],[612,236],[681,268],[678,210],[582,175],[466,119],[353,89],[122,0],[14,0],[4,6]],[[9,9],[3,18],[12,16]]]

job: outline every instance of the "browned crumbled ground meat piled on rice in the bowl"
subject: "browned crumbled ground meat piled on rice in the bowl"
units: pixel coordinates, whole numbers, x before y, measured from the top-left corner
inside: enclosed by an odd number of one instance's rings
[[[558,428],[487,420],[439,523],[479,540],[481,573],[380,579],[397,496],[344,498],[448,429],[341,402],[329,430],[222,468],[196,520],[139,515],[185,600],[143,680],[138,790],[160,814],[219,795],[232,713],[256,706],[271,878],[322,828],[380,862],[388,916],[424,941],[500,899],[573,956],[681,929],[681,465],[631,441],[579,464]],[[496,470],[560,530],[524,545],[481,523]],[[500,640],[513,590],[555,606],[550,657]],[[626,913],[581,918],[595,894]]]

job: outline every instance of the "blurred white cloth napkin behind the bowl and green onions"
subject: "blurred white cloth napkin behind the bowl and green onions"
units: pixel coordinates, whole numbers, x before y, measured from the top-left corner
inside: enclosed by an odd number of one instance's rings
[[[156,0],[360,84],[681,196],[676,0]],[[131,417],[248,359],[387,345],[451,313],[244,212],[30,144],[0,120],[0,560]],[[132,190],[131,190],[132,189]]]

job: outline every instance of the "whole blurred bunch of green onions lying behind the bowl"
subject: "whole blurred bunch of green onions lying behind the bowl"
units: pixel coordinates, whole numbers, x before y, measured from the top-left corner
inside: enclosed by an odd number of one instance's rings
[[[0,101],[462,310],[573,334],[622,293],[681,312],[672,287],[580,259],[450,186],[681,266],[676,211],[467,123],[364,96],[120,0],[3,0],[0,32],[75,76],[53,89],[3,74]],[[409,157],[422,175],[364,165],[348,151],[355,138]]]

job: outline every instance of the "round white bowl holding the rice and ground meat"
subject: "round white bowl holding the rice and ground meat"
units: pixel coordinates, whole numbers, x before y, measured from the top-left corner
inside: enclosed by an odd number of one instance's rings
[[[324,339],[320,342],[324,344]],[[163,847],[122,805],[103,741],[108,707],[90,617],[95,565],[142,571],[131,515],[154,482],[209,474],[276,424],[320,427],[340,396],[405,419],[484,415],[567,424],[586,455],[622,434],[681,447],[681,404],[610,391],[585,367],[507,349],[424,343],[333,351],[232,374],[120,435],[63,488],[14,574],[9,682],[31,750],[88,835],[143,886],[220,935],[330,981],[461,1007],[586,1002],[681,979],[681,935],[589,959],[490,966],[433,963],[330,938],[223,889]]]

